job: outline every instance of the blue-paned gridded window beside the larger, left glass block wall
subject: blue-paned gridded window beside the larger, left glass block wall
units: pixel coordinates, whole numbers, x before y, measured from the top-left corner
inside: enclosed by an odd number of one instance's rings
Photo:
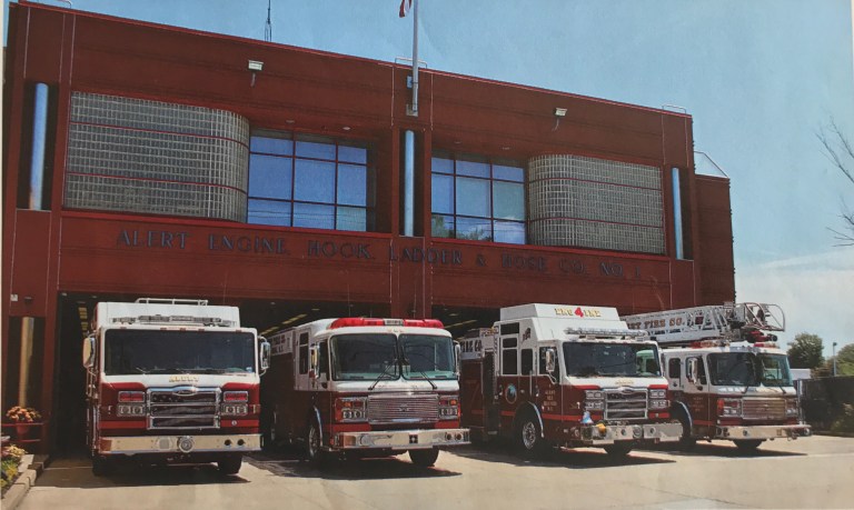
[[[252,132],[250,223],[373,231],[375,193],[367,144],[282,131]]]

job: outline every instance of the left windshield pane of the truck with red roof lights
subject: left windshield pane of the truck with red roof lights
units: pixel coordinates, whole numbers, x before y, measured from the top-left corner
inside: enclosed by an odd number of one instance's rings
[[[397,379],[397,337],[384,333],[336,334],[330,340],[332,379]]]

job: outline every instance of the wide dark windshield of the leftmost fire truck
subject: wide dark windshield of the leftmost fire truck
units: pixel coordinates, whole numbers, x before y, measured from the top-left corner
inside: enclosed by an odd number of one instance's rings
[[[108,330],[107,376],[255,372],[255,337],[235,331]]]

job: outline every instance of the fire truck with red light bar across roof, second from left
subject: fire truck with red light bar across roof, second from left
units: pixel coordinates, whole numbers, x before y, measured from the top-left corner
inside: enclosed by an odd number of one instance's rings
[[[301,442],[314,463],[408,451],[424,467],[439,448],[468,443],[457,349],[440,321],[324,319],[270,343],[265,441]]]

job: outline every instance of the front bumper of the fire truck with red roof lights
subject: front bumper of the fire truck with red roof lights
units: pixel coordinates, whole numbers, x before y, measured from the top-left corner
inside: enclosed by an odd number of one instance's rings
[[[468,429],[374,430],[332,436],[334,448],[341,450],[419,450],[468,443]]]

